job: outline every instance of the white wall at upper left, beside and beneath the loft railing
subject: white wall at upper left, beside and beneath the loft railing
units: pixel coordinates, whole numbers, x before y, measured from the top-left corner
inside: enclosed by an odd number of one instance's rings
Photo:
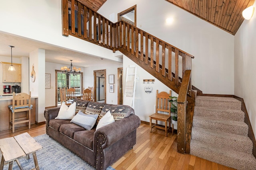
[[[112,50],[74,36],[62,36],[61,0],[1,1],[0,31],[114,61]]]

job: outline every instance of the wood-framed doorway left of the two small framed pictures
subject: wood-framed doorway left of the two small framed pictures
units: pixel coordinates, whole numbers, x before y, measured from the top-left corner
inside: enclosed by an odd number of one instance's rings
[[[94,70],[94,101],[106,101],[106,70]]]

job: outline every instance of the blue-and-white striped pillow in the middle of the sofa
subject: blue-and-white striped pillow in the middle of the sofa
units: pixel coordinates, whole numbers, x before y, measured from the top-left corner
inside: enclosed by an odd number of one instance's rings
[[[75,123],[76,125],[82,126],[87,130],[91,130],[96,123],[98,118],[97,114],[87,115],[82,111],[78,111],[78,113],[73,117],[70,123]]]

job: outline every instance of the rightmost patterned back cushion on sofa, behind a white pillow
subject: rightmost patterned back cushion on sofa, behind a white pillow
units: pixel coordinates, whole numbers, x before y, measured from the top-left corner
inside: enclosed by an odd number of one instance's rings
[[[126,105],[104,105],[99,119],[101,119],[108,111],[113,115],[115,121],[122,119],[124,117],[130,116],[132,114],[132,107]]]

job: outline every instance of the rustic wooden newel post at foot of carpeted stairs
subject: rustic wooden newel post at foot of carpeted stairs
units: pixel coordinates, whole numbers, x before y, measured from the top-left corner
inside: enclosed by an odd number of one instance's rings
[[[186,102],[178,102],[177,151],[185,154],[186,144]]]

